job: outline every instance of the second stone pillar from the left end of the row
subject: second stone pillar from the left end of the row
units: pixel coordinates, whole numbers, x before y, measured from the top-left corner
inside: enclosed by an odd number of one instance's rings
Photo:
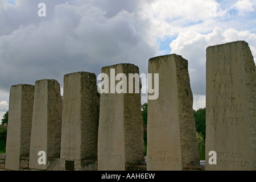
[[[47,169],[47,164],[38,164],[39,151],[45,151],[47,159],[60,157],[62,102],[56,80],[35,82],[29,162],[32,169]]]

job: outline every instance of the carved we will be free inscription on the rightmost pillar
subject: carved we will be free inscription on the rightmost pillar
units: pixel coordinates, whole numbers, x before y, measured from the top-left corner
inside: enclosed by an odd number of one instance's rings
[[[230,55],[230,52],[226,52]],[[240,93],[237,91],[233,80],[238,77],[234,71],[236,61],[232,61],[231,56],[222,54],[217,56],[216,69],[213,77],[213,98],[214,105],[207,105],[207,112],[210,116],[211,125],[231,125],[238,126],[245,123],[243,117],[244,105],[240,102]],[[234,91],[236,90],[236,91]]]

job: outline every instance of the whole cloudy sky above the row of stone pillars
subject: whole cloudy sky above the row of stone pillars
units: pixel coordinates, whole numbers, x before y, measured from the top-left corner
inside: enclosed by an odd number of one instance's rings
[[[193,108],[205,107],[205,50],[236,40],[256,56],[256,0],[0,0],[0,118],[11,85],[63,87],[65,74],[118,63],[147,73],[148,59],[170,53],[188,60]]]

